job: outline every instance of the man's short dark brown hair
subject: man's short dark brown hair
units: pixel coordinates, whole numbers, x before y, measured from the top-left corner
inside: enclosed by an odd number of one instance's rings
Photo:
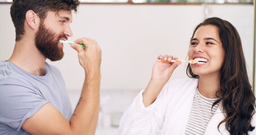
[[[46,18],[47,11],[77,12],[79,4],[79,0],[13,0],[10,13],[16,31],[15,40],[20,40],[21,35],[25,33],[24,22],[27,11],[34,11],[42,21]]]

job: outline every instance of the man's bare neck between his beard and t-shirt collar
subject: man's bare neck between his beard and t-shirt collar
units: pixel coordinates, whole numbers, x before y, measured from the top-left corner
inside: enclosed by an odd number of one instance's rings
[[[21,40],[17,41],[14,52],[8,61],[28,73],[39,76],[46,74],[46,57],[35,46],[34,38],[26,38],[24,36]]]

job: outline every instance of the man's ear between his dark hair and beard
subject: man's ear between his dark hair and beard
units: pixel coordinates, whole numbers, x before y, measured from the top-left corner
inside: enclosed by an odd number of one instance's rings
[[[37,13],[29,10],[26,12],[26,22],[31,29],[35,30],[40,23],[40,19],[37,16]]]

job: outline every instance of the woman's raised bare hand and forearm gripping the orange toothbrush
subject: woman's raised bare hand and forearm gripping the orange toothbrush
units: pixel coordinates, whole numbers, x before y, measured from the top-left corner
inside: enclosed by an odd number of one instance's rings
[[[151,105],[156,100],[161,89],[163,89],[165,83],[167,83],[172,76],[173,71],[181,64],[181,62],[163,63],[160,62],[161,59],[164,61],[178,60],[177,57],[174,57],[173,59],[173,56],[171,55],[165,55],[164,57],[162,55],[158,56],[152,70],[150,82],[142,94],[145,107]]]

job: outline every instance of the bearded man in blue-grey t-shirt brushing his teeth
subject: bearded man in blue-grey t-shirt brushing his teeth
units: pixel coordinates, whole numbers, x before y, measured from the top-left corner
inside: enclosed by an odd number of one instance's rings
[[[73,34],[72,11],[78,0],[14,0],[16,30],[12,56],[0,62],[0,134],[95,134],[100,89],[101,48],[80,38],[78,52],[86,78],[72,112],[60,71],[46,62],[61,60],[63,44]]]

